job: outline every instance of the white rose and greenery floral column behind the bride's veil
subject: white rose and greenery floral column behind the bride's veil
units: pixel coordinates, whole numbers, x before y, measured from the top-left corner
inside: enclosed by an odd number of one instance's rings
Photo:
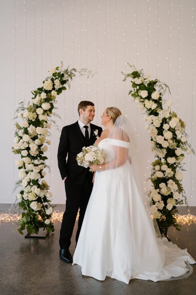
[[[128,64],[129,65],[129,64]],[[138,104],[138,109],[146,109],[144,121],[151,141],[150,150],[157,160],[152,163],[151,181],[154,188],[147,192],[151,204],[151,214],[157,219],[161,233],[167,234],[171,225],[180,230],[180,226],[173,218],[177,212],[176,205],[187,204],[181,181],[184,153],[193,153],[194,150],[187,142],[185,122],[171,111],[172,101],[166,101],[167,109],[163,109],[163,95],[168,86],[159,80],[149,81],[149,74],[138,71],[129,65],[132,73],[124,74],[124,81],[131,77],[132,87],[129,94]],[[169,89],[169,88],[168,88]],[[160,188],[157,189],[157,188]],[[180,195],[182,198],[180,199]]]

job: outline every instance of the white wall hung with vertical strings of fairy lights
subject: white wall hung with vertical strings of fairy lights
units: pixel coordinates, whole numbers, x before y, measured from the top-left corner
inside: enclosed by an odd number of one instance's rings
[[[95,103],[94,123],[101,125],[107,106],[117,106],[129,117],[138,135],[146,175],[154,159],[143,114],[128,96],[129,81],[121,71],[126,64],[143,68],[151,78],[167,83],[172,110],[187,123],[192,147],[195,139],[195,1],[194,0],[1,0],[1,196],[11,203],[18,180],[16,157],[11,153],[14,112],[31,90],[40,87],[48,70],[60,65],[97,72],[93,78],[77,77],[57,98],[60,130],[78,119],[81,100]],[[195,123],[195,124],[194,124]],[[65,203],[64,185],[57,166],[60,132],[52,128],[47,164],[52,173],[46,180],[53,203]],[[196,205],[196,158],[186,156],[183,186],[189,204]],[[192,197],[191,197],[192,196]]]

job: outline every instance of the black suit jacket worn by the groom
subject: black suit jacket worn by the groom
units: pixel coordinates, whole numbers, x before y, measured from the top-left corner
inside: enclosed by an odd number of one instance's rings
[[[93,131],[96,129],[98,130],[98,135],[100,136],[102,128],[90,123],[89,145],[93,145],[93,143],[95,143],[96,136]],[[79,166],[76,161],[76,157],[77,154],[82,151],[84,146],[85,137],[80,130],[78,121],[62,128],[57,155],[58,167],[62,179],[67,177],[78,184],[83,182],[89,169]],[[66,161],[67,154],[68,158]],[[91,174],[93,175],[93,173]]]

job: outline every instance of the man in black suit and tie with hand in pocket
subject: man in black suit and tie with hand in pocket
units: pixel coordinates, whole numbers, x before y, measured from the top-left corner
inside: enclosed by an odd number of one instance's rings
[[[58,167],[61,178],[65,181],[66,208],[60,229],[60,256],[65,262],[73,262],[69,252],[75,219],[80,208],[76,244],[82,227],[86,207],[93,189],[93,173],[88,168],[79,166],[76,156],[84,146],[93,145],[102,128],[91,124],[95,116],[95,106],[91,101],[81,101],[78,105],[79,120],[62,128],[58,147]],[[68,158],[66,160],[68,154]]]

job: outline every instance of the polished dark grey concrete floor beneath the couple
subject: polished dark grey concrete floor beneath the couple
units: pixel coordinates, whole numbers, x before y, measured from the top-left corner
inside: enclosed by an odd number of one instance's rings
[[[0,204],[0,214],[8,213],[9,204]],[[65,205],[55,209],[64,211]],[[14,210],[12,210],[13,212]],[[196,215],[196,207],[190,207]],[[179,214],[187,214],[186,207]],[[59,258],[60,222],[55,222],[55,232],[45,239],[24,239],[17,232],[15,222],[0,223],[0,294],[1,295],[195,295],[196,264],[192,275],[184,280],[154,283],[133,279],[126,283],[106,277],[98,281],[81,274],[78,265],[64,263]],[[75,250],[75,224],[70,252]],[[169,237],[180,248],[196,258],[196,225],[185,225],[181,232],[169,229]]]

